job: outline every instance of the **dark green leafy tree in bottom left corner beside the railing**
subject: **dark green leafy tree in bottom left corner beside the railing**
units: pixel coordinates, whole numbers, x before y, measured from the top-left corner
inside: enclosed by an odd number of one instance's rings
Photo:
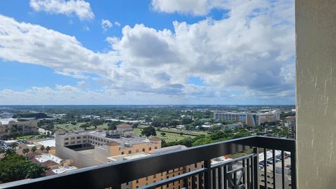
[[[1,158],[0,170],[0,181],[3,183],[45,176],[45,167],[16,153]]]

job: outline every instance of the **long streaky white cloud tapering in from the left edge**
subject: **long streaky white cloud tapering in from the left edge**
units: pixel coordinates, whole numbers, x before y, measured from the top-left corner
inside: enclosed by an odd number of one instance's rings
[[[67,76],[83,72],[107,74],[104,69],[118,61],[115,52],[102,54],[84,48],[74,36],[39,25],[16,22],[0,15],[0,57],[5,60],[39,64]]]

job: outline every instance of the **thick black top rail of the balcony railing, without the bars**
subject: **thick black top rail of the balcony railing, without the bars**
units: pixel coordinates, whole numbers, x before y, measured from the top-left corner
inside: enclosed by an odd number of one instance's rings
[[[179,151],[148,155],[135,160],[76,169],[64,174],[4,183],[0,188],[109,188],[121,183],[192,165],[252,147],[295,152],[295,141],[271,137],[244,137]]]

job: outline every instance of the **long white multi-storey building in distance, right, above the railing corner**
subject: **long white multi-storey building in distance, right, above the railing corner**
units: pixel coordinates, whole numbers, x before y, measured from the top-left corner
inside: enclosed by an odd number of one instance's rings
[[[225,120],[229,122],[240,121],[246,125],[260,125],[261,123],[280,120],[279,111],[268,111],[265,113],[246,113],[246,112],[214,112],[214,120]]]

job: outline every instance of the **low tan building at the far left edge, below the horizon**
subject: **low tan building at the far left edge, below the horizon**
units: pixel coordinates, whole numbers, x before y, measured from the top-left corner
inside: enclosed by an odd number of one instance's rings
[[[38,133],[37,120],[0,119],[0,137],[6,134],[25,135],[36,133]]]

